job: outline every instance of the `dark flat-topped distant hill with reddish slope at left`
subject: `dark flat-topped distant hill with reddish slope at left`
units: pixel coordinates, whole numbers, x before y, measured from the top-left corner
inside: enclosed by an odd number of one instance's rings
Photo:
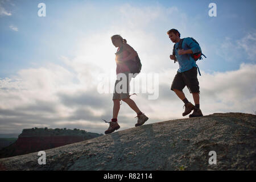
[[[0,151],[0,158],[47,150],[49,148],[96,138],[101,135],[102,134],[90,133],[79,129],[47,129],[36,127],[23,129],[16,142]]]

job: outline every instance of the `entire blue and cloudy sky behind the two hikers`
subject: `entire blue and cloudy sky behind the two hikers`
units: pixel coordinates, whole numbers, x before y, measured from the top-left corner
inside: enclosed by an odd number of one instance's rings
[[[210,3],[216,16],[209,15]],[[104,133],[108,123],[102,119],[110,121],[113,113],[115,34],[141,59],[130,94],[137,93],[131,98],[147,123],[188,118],[170,90],[179,68],[169,57],[171,28],[181,38],[195,38],[207,56],[197,61],[203,114],[256,114],[255,12],[254,0],[1,0],[0,133],[32,127]],[[122,102],[119,130],[134,127],[136,115]]]

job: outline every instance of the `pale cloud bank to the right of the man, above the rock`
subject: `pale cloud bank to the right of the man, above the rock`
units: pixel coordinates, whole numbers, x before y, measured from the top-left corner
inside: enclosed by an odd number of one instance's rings
[[[204,73],[200,77],[202,102],[207,113],[233,111],[254,113],[256,65],[241,64],[237,71]]]

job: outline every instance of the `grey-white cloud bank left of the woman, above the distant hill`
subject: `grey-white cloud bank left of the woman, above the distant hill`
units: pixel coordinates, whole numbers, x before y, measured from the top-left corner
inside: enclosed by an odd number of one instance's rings
[[[97,79],[91,82],[97,85]],[[0,79],[0,133],[27,127],[82,127],[103,133],[108,125],[101,119],[112,117],[112,95],[99,94],[96,86],[88,89],[83,84],[80,73],[55,64],[22,69],[12,78]],[[125,127],[127,118],[120,118]]]

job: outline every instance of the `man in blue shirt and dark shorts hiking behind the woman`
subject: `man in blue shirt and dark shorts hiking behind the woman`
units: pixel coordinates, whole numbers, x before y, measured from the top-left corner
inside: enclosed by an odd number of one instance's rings
[[[197,80],[197,67],[196,61],[192,58],[191,54],[200,52],[201,48],[196,44],[191,38],[184,38],[182,43],[182,49],[179,49],[180,42],[180,32],[176,29],[171,29],[167,32],[167,35],[173,43],[175,43],[175,55],[170,55],[170,59],[176,60],[179,63],[179,69],[177,74],[172,81],[171,90],[173,90],[177,96],[184,102],[185,111],[182,114],[183,116],[188,115],[193,110],[193,113],[189,115],[189,118],[192,117],[201,117],[203,116],[200,110],[199,104],[199,81]],[[193,95],[193,100],[195,106],[187,100],[185,94],[183,93],[184,87],[187,86],[189,92]]]

